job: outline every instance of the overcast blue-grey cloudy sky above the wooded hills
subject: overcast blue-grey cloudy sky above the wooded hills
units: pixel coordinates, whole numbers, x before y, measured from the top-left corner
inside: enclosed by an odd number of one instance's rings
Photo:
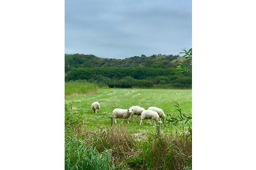
[[[192,46],[191,0],[65,0],[65,53],[179,54]]]

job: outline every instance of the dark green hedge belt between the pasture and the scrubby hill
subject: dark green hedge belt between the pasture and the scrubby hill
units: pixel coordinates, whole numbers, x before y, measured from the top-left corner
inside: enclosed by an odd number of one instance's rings
[[[83,80],[108,87],[191,88],[191,73],[156,67],[84,67],[70,71],[65,81]]]

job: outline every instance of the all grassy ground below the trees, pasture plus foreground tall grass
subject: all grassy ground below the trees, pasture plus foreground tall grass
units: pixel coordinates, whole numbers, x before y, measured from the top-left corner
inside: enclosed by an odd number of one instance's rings
[[[65,97],[65,169],[191,169],[191,90],[97,90]],[[93,101],[99,113],[92,113]],[[161,136],[139,117],[117,120],[110,130],[112,110],[132,105],[163,108]]]

